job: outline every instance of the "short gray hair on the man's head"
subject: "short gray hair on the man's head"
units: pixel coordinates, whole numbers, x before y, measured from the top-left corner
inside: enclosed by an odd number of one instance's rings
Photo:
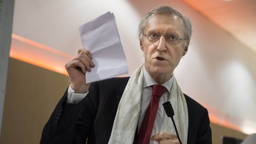
[[[139,24],[139,31],[138,31],[139,40],[142,40],[142,36],[143,36],[144,30],[145,30],[146,21],[153,14],[168,14],[168,15],[176,15],[177,17],[180,17],[181,20],[183,20],[183,23],[185,25],[184,34],[185,34],[185,39],[187,40],[187,45],[188,45],[188,43],[190,41],[191,33],[192,33],[191,22],[187,17],[185,17],[180,12],[178,12],[177,10],[175,10],[169,6],[161,6],[156,9],[153,9],[152,11],[148,12],[148,14],[146,14],[142,18],[142,20],[140,21],[140,24]]]

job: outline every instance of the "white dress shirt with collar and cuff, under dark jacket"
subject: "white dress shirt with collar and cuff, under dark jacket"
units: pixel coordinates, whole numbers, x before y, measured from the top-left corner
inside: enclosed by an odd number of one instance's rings
[[[144,74],[143,92],[142,92],[142,99],[141,99],[142,107],[141,107],[141,110],[140,110],[140,116],[139,116],[139,122],[138,122],[138,131],[139,131],[140,126],[142,124],[143,117],[146,113],[146,109],[148,108],[148,105],[151,101],[151,97],[152,97],[152,87],[151,87],[151,85],[158,85],[157,82],[146,71],[145,67],[143,67],[143,74]],[[173,76],[167,82],[162,84],[165,88],[167,88],[167,92],[165,92],[162,95],[161,99],[160,99],[159,107],[158,107],[158,111],[157,111],[157,114],[156,114],[156,119],[155,119],[155,123],[153,125],[153,130],[152,130],[151,136],[155,135],[156,133],[161,132],[160,131],[161,126],[162,126],[162,122],[163,122],[164,116],[165,116],[165,111],[164,111],[164,107],[162,106],[162,104],[165,103],[165,101],[167,101],[167,96],[169,95],[169,92],[171,91],[172,82],[173,82]],[[68,103],[79,103],[80,101],[83,100],[83,98],[86,97],[88,92],[85,93],[85,94],[76,94],[73,91],[73,89],[71,88],[71,86],[69,86],[67,102]],[[149,143],[150,144],[157,144],[157,142],[153,142],[153,141],[150,141]]]

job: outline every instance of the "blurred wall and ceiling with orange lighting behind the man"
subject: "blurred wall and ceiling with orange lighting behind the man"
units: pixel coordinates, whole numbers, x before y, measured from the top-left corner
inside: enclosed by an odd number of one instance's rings
[[[65,63],[82,48],[79,26],[113,12],[130,75],[143,63],[137,25],[161,5],[193,25],[188,53],[174,74],[183,92],[209,110],[213,143],[256,133],[255,0],[16,0],[7,81],[1,75],[0,143],[39,143],[69,86]]]

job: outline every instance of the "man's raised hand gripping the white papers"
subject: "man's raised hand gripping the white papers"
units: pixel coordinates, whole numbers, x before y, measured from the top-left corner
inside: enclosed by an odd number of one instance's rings
[[[89,84],[86,84],[85,73],[91,72],[94,66],[91,53],[86,49],[79,49],[78,55],[66,63],[65,68],[71,79],[71,88],[75,93],[83,94],[88,91]]]

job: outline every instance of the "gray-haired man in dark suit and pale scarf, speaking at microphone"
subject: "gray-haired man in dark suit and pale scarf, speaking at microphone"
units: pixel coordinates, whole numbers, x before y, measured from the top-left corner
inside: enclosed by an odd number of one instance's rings
[[[86,84],[94,67],[81,49],[66,70],[71,85],[44,126],[41,143],[179,143],[162,103],[171,101],[182,143],[212,143],[206,108],[183,94],[173,75],[188,50],[191,24],[162,6],[139,24],[145,63],[130,78]]]

